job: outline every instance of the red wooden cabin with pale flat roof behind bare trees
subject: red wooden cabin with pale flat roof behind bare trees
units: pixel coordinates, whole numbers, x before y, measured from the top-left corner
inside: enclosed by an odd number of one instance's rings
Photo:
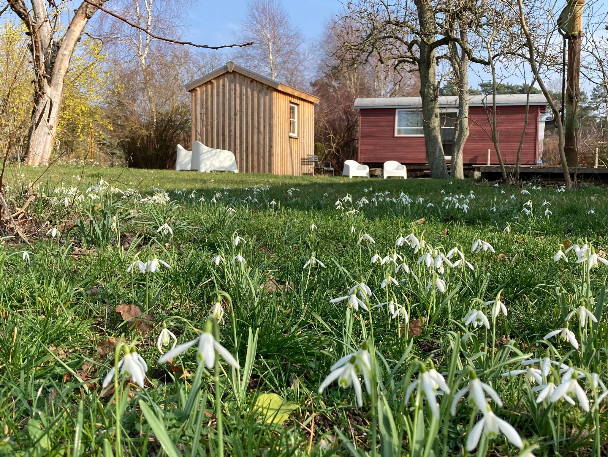
[[[505,164],[515,164],[526,120],[526,94],[496,96],[496,122],[500,153]],[[542,94],[530,94],[528,124],[523,138],[522,165],[536,165],[542,154],[544,124],[541,113],[547,100]],[[441,138],[446,160],[451,159],[454,125],[458,114],[458,97],[439,97]],[[402,164],[426,164],[420,97],[356,99],[359,110],[359,159],[365,164],[382,164],[395,160]],[[492,143],[492,97],[471,96],[469,99],[469,138],[463,153],[463,164],[497,164]]]

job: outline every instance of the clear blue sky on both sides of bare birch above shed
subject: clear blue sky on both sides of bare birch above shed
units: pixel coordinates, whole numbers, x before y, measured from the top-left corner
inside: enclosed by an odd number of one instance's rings
[[[337,0],[283,0],[292,24],[309,40],[340,10]],[[247,0],[199,0],[190,9],[188,39],[194,43],[232,44],[247,13]]]

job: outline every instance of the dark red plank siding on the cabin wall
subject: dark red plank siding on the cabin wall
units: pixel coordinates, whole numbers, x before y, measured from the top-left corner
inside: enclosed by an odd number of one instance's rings
[[[522,164],[536,164],[541,112],[544,112],[544,106],[530,106],[523,139]],[[395,136],[395,108],[368,108],[359,110],[359,113],[359,162],[396,160],[403,164],[426,163],[424,138]],[[497,106],[497,113],[500,152],[506,164],[515,164],[525,121],[525,106]],[[491,163],[498,163],[488,115],[491,119],[491,108],[469,108],[469,138],[463,153],[465,164],[485,164],[488,149],[491,150]]]

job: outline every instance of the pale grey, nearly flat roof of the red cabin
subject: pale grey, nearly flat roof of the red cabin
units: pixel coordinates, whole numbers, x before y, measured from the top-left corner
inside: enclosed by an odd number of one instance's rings
[[[527,94],[500,94],[496,96],[496,105],[526,105]],[[458,96],[438,97],[440,108],[457,108]],[[530,105],[545,105],[547,99],[543,94],[530,94]],[[469,106],[492,106],[492,95],[469,96]],[[421,108],[421,97],[385,97],[378,99],[356,99],[353,108]]]

